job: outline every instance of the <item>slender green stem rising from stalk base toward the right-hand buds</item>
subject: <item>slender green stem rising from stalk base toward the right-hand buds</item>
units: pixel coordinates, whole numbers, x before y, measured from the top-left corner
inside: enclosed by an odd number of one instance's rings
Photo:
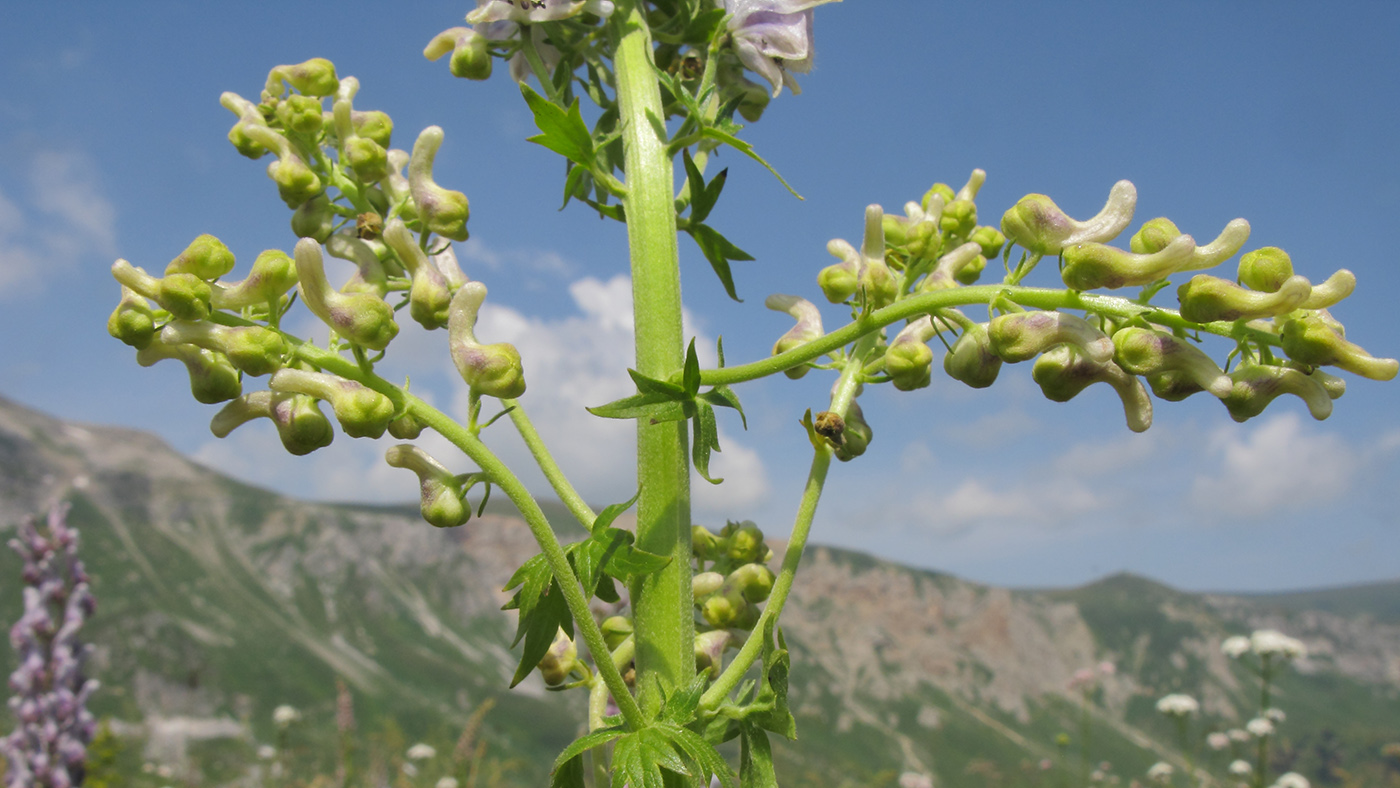
[[[846,413],[850,410],[851,402],[860,391],[860,372],[865,364],[865,356],[869,354],[874,346],[875,335],[867,335],[841,367],[841,377],[832,392],[830,407],[841,418],[846,418]],[[806,487],[802,488],[802,500],[798,501],[797,519],[792,522],[792,535],[788,537],[787,549],[783,551],[783,568],[778,570],[778,577],[773,581],[773,592],[769,593],[769,602],[763,607],[759,621],[753,624],[753,634],[749,635],[749,640],[743,641],[739,654],[720,673],[720,677],[700,696],[701,711],[714,711],[718,708],[763,654],[763,633],[767,631],[769,621],[776,621],[783,614],[783,605],[787,603],[788,592],[792,591],[792,579],[797,577],[798,564],[802,563],[806,537],[812,532],[812,519],[816,516],[816,504],[822,500],[822,488],[826,486],[826,472],[832,467],[832,448],[825,444],[813,448],[812,466],[806,472]]]

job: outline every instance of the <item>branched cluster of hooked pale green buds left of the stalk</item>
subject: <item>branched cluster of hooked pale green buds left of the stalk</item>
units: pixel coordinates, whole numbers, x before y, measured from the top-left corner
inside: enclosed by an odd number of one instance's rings
[[[444,134],[430,126],[412,153],[391,147],[392,119],[354,108],[360,83],[337,77],[329,60],[277,66],[258,102],[225,92],[221,104],[237,122],[228,133],[249,158],[272,158],[267,175],[293,210],[293,253],[258,255],[242,279],[228,279],[235,256],[218,238],[200,235],[165,267],[164,276],[118,260],[122,286],[108,321],[112,336],[137,351],[137,363],[182,363],[202,403],[227,403],[210,424],[218,437],[253,418],[267,418],[284,448],[304,455],[335,437],[322,404],[350,437],[385,431],[412,439],[423,424],[385,391],[319,368],[312,346],[280,325],[294,297],[329,329],[330,349],[353,351],[365,368],[399,333],[398,311],[424,329],[448,329],[448,344],[473,396],[514,397],[525,391],[519,354],[510,344],[476,340],[486,287],[469,283],[451,241],[468,237],[466,196],[440,186],[434,161]],[[329,106],[328,106],[329,105]],[[325,256],[351,263],[339,287]],[[293,293],[295,290],[295,293]],[[267,388],[245,393],[251,378]],[[420,474],[424,516],[459,525],[466,509],[461,483],[430,472],[431,458],[391,452]],[[445,472],[444,472],[445,473]],[[433,490],[430,491],[430,487]]]

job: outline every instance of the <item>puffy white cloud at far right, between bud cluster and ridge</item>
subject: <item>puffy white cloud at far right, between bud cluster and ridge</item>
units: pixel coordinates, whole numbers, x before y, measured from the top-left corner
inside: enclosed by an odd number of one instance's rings
[[[1261,518],[1345,495],[1364,456],[1383,451],[1348,445],[1331,432],[1305,430],[1296,413],[1261,420],[1253,428],[1226,425],[1210,438],[1219,466],[1196,476],[1191,504],[1208,512]]]

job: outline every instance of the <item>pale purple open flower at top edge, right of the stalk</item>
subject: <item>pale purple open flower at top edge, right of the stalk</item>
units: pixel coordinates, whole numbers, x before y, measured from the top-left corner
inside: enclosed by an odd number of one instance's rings
[[[833,0],[724,0],[739,62],[773,85],[799,94],[792,73],[812,70],[812,8]],[[836,0],[839,1],[839,0]]]

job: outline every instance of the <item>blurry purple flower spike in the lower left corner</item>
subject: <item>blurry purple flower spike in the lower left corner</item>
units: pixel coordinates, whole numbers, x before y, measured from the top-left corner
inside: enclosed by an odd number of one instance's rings
[[[49,509],[46,528],[29,519],[10,540],[24,558],[24,613],[10,630],[18,668],[10,675],[15,729],[0,739],[8,788],[70,788],[83,784],[87,745],[97,721],[87,701],[98,683],[84,676],[91,645],[78,630],[95,602],[78,558],[78,532],[67,505]]]

